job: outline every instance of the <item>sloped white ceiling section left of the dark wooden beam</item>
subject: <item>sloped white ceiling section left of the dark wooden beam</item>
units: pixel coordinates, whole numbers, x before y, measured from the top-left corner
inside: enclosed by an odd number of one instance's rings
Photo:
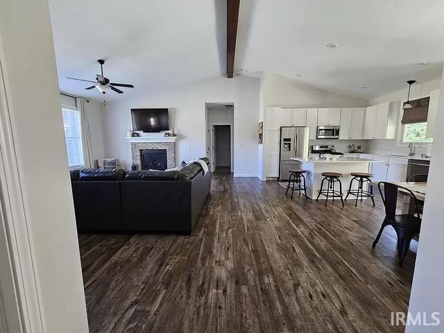
[[[49,0],[60,89],[101,99],[84,89],[92,84],[66,79],[94,80],[100,58],[111,82],[135,85],[106,100],[222,74],[225,8],[216,1]]]

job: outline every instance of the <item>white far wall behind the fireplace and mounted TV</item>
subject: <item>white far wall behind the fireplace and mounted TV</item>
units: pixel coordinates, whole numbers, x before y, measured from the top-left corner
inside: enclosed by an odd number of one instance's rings
[[[131,164],[131,108],[169,108],[170,128],[176,128],[176,162],[205,156],[205,103],[234,103],[234,176],[257,176],[259,80],[222,76],[180,85],[164,92],[141,91],[107,103],[102,111],[103,142],[107,157]]]

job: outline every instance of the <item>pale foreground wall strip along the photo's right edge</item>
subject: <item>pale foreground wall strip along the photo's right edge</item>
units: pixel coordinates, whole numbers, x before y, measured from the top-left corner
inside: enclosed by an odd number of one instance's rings
[[[441,80],[441,91],[444,92],[444,74]],[[444,326],[444,223],[443,223],[443,177],[444,164],[444,94],[439,96],[438,115],[433,144],[433,159],[430,163],[427,182],[427,200],[422,214],[421,237],[416,256],[415,274],[411,288],[409,311],[440,312],[441,325],[428,327],[407,327],[407,333],[443,332]]]

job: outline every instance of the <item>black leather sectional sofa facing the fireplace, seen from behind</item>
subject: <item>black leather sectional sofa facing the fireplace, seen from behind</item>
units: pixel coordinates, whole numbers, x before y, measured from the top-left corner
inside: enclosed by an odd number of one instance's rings
[[[71,171],[77,229],[190,234],[210,183],[211,172],[198,163],[180,171]]]

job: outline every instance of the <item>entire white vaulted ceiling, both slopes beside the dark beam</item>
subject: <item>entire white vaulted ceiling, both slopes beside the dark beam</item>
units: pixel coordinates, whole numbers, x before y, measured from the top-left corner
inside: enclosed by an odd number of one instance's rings
[[[136,86],[107,100],[225,73],[223,0],[49,4],[62,91],[101,99],[88,83],[66,79],[93,80],[99,58],[112,82]],[[443,14],[440,0],[241,0],[235,64],[372,98],[441,76]]]

